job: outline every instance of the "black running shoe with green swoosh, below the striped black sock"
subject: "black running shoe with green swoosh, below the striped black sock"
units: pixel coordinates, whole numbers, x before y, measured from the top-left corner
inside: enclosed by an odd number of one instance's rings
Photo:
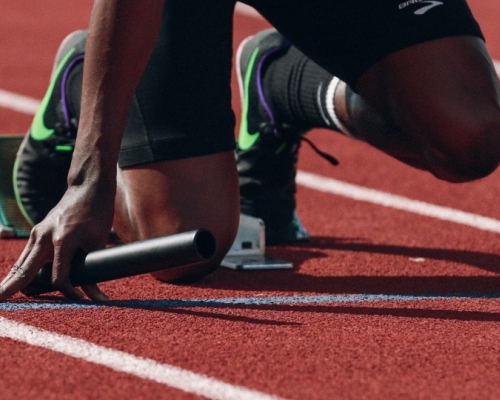
[[[297,159],[305,130],[277,120],[262,83],[269,61],[289,47],[269,29],[243,41],[236,56],[243,108],[236,149],[241,212],[264,221],[269,245],[310,237],[295,212]]]

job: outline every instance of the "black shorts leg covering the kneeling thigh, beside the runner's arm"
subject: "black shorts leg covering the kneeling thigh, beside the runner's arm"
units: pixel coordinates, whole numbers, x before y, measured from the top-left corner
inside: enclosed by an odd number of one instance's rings
[[[121,167],[234,149],[231,109],[235,0],[169,0],[137,88]]]

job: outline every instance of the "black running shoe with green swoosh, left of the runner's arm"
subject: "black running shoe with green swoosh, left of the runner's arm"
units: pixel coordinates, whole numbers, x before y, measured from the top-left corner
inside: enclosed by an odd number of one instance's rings
[[[49,89],[17,153],[14,192],[19,209],[32,225],[45,218],[67,189],[80,116],[86,39],[86,31],[77,31],[62,42]]]

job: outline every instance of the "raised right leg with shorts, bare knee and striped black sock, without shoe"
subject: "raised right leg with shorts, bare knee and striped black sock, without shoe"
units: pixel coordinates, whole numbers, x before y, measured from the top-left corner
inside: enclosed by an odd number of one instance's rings
[[[365,21],[367,32],[370,24],[373,28],[366,36],[365,25],[361,30],[355,26],[342,31],[342,19],[359,14],[355,6],[343,9],[347,2],[339,8],[344,13],[340,17],[331,9],[321,10],[323,15],[308,10],[313,18],[304,23],[302,31],[289,25],[274,5],[258,3],[287,38],[330,71],[325,75],[323,68],[294,47],[269,61],[263,69],[267,69],[264,92],[279,125],[343,130],[453,182],[477,179],[496,168],[500,140],[498,78],[465,4],[450,2],[422,19],[411,7],[405,15],[389,8],[384,17],[392,18],[395,26],[399,24],[396,32],[383,32],[375,13]],[[303,12],[300,7],[290,9],[288,14]],[[449,15],[453,15],[453,22]],[[329,19],[339,24],[340,34],[332,31],[331,26],[336,24],[328,25]],[[314,29],[308,31],[308,26]],[[443,26],[446,29],[442,30]],[[422,37],[423,32],[430,36]],[[332,35],[340,38],[332,39]],[[354,40],[348,42],[348,35]],[[392,50],[389,47],[393,44],[382,40],[390,37],[397,37]],[[406,45],[404,40],[408,41]],[[372,47],[358,49],[359,43]],[[346,61],[344,66],[342,60]],[[333,91],[323,90],[332,85],[332,73],[349,85],[341,83]],[[320,97],[322,100],[318,100]],[[334,105],[334,115],[324,107],[327,103]]]

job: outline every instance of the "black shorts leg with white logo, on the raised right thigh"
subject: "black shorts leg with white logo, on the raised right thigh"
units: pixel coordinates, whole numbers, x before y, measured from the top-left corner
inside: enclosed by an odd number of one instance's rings
[[[442,0],[434,7],[420,0],[248,2],[299,50],[353,89],[371,66],[404,48],[447,36],[482,36],[465,0]]]

